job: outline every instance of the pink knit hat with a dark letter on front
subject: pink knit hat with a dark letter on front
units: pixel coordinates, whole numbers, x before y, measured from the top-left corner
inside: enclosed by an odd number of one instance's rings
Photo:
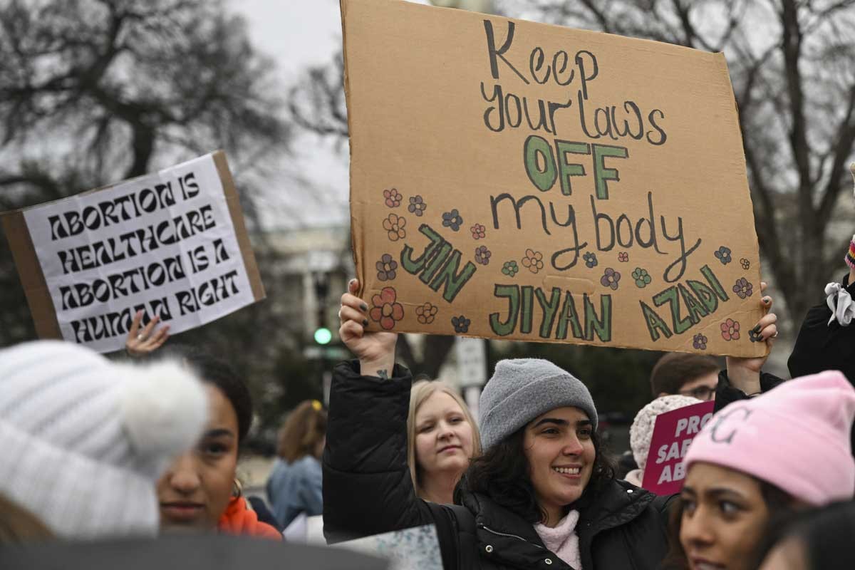
[[[684,460],[747,473],[814,506],[852,498],[855,388],[837,371],[784,382],[713,416]]]

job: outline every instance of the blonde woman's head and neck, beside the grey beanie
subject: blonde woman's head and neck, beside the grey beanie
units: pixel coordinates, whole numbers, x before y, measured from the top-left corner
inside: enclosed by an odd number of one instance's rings
[[[481,455],[481,436],[469,408],[451,386],[419,380],[410,391],[407,459],[416,495],[451,504],[454,487]]]

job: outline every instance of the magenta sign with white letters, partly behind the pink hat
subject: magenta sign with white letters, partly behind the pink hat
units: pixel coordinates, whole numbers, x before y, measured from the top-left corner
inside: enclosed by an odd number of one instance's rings
[[[715,405],[711,400],[656,416],[642,487],[657,495],[680,492],[683,479],[686,479],[683,457],[694,437],[712,417]]]

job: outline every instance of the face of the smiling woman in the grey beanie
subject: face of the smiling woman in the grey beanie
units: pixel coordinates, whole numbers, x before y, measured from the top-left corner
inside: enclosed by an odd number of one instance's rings
[[[593,424],[579,408],[556,408],[526,426],[522,449],[528,476],[547,526],[561,520],[563,508],[581,497],[593,473],[597,452]]]

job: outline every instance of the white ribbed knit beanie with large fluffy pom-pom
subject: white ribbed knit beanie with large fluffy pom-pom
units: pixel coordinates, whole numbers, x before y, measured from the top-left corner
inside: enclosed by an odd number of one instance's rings
[[[192,371],[76,344],[0,350],[0,493],[61,538],[153,536],[156,481],[208,415]]]

